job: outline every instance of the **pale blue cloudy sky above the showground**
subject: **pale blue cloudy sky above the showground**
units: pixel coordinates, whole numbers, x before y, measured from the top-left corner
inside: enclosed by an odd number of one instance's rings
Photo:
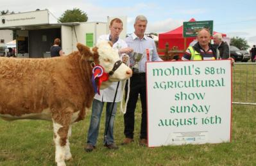
[[[127,33],[133,32],[133,23],[137,15],[145,15],[148,19],[148,33],[165,33],[183,22],[194,18],[197,21],[213,20],[214,31],[225,33],[232,38],[238,36],[256,44],[256,1],[152,1],[152,0],[8,0],[1,3],[0,11],[18,12],[48,9],[56,18],[62,16],[65,10],[79,8],[87,13],[88,22],[107,22],[107,17],[126,16],[128,19]]]

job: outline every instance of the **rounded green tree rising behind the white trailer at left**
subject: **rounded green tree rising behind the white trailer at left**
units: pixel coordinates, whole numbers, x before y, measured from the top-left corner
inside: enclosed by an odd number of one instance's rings
[[[59,20],[60,22],[87,22],[88,17],[87,13],[78,8],[74,8],[73,10],[66,10]]]

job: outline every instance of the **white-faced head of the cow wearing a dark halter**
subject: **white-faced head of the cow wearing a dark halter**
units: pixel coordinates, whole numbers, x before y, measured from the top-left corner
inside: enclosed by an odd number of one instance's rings
[[[77,47],[81,55],[91,54],[88,61],[101,65],[108,73],[108,81],[102,83],[101,89],[107,87],[111,82],[126,80],[132,76],[132,70],[126,64],[121,63],[118,52],[108,41],[100,41],[90,52],[84,52],[87,49],[84,49],[85,46],[80,43]]]

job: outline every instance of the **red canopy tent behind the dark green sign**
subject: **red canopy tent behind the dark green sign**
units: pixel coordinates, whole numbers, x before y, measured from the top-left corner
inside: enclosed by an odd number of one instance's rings
[[[196,21],[195,19],[189,20],[189,22],[195,22],[195,21]],[[216,33],[217,32],[214,31],[214,34]],[[222,36],[226,36],[226,34],[223,34],[223,33],[221,34]],[[167,33],[160,33],[158,35],[158,38],[159,38],[158,40],[159,49],[164,49],[166,43],[169,43],[169,48],[173,48],[173,46],[177,46],[178,50],[185,50],[189,46],[189,43],[191,43],[191,41],[193,41],[196,37],[186,38],[186,39],[183,38],[183,26],[180,26]]]

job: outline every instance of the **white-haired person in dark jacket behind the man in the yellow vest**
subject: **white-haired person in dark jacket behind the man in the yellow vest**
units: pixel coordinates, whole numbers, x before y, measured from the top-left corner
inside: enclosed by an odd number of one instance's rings
[[[223,41],[222,34],[216,33],[214,34],[213,38],[214,38],[214,45],[216,49],[219,50],[219,56],[217,57],[221,59],[228,59],[230,57],[229,47],[228,47],[228,43],[226,43],[226,41]]]

